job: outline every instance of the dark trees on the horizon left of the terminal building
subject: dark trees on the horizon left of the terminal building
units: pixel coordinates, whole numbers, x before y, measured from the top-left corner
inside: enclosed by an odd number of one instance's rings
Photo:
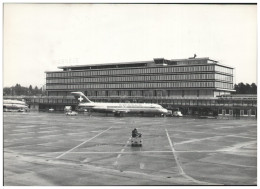
[[[38,95],[46,95],[46,91],[41,88],[32,85],[29,87],[23,87],[20,84],[16,84],[13,87],[4,87],[3,88],[4,96],[38,96]]]

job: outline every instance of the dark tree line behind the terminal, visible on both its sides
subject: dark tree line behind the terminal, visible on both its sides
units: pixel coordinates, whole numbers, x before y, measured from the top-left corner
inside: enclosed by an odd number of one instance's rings
[[[236,92],[232,94],[257,94],[257,86],[255,83],[251,85],[243,82],[235,84],[234,89]],[[35,86],[34,88],[32,85],[29,87],[22,87],[20,84],[16,84],[14,87],[4,87],[3,89],[4,96],[37,96],[37,95],[46,95],[46,91],[42,88],[38,88]]]

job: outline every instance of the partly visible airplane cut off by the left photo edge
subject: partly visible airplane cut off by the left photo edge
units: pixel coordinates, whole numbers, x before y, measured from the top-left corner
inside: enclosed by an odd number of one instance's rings
[[[3,100],[4,112],[24,112],[29,110],[29,106],[20,100]]]

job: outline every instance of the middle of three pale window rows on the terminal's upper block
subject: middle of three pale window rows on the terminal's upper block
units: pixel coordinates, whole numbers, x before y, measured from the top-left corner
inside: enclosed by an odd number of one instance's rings
[[[231,76],[216,74],[217,79],[232,82]],[[214,79],[214,74],[189,74],[189,75],[153,75],[153,76],[135,76],[135,77],[99,77],[99,78],[73,78],[73,79],[51,79],[47,84],[53,83],[107,83],[107,82],[134,82],[134,81],[162,81],[162,80],[200,80]]]

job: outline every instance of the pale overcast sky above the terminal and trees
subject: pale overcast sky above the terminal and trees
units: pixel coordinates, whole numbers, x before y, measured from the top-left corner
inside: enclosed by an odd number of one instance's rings
[[[4,86],[58,66],[209,57],[257,81],[256,5],[5,4]]]

